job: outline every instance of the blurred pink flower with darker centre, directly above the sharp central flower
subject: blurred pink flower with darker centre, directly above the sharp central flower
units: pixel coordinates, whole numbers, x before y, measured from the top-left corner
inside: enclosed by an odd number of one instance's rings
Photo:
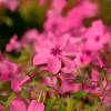
[[[60,13],[56,13],[53,10],[49,10],[47,13],[47,21],[44,22],[44,29],[49,32],[59,33],[69,29],[70,26],[67,26],[65,18],[61,17]]]

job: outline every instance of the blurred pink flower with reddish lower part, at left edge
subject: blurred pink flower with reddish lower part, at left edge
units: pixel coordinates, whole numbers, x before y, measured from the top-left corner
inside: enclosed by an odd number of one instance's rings
[[[22,75],[19,72],[19,68],[16,63],[3,58],[0,61],[0,80],[1,81],[11,81],[11,89],[18,91],[21,89],[18,84],[22,80]]]

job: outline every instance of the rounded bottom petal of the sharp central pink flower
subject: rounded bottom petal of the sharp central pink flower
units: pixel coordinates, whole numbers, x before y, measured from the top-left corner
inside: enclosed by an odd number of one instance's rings
[[[48,70],[51,73],[56,74],[60,71],[60,69],[61,69],[61,61],[57,57],[51,56],[48,61]]]

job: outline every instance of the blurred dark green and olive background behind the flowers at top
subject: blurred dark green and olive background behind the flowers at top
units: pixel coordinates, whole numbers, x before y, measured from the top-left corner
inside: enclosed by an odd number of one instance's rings
[[[14,33],[20,39],[28,29],[36,28],[39,31],[43,30],[42,26],[51,0],[41,1],[44,3],[41,3],[40,0],[18,0],[16,10],[9,10],[7,6],[2,2],[0,3],[0,50],[4,50],[4,46]],[[111,0],[94,1],[99,4],[100,11],[95,18],[87,19],[84,21],[85,26],[89,26],[97,18],[101,18],[107,26],[111,26]],[[77,4],[77,0],[68,0],[68,6],[63,10],[63,13]]]

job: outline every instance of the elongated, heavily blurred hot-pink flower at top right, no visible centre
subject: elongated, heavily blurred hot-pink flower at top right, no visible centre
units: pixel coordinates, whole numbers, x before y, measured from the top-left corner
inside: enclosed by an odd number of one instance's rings
[[[72,28],[78,28],[82,26],[83,19],[92,18],[97,14],[97,12],[98,7],[95,3],[83,1],[69,11],[65,22],[69,22],[68,24]]]

